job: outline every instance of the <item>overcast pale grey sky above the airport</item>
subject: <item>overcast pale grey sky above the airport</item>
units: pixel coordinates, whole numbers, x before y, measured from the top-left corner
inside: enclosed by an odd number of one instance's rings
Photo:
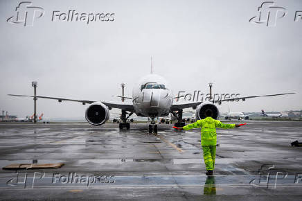
[[[121,82],[130,96],[136,80],[154,72],[177,91],[262,95],[297,94],[229,103],[232,112],[302,109],[302,1],[274,1],[287,9],[275,27],[251,24],[263,1],[32,1],[45,14],[33,27],[9,24],[21,1],[0,1],[0,110],[24,117],[37,94],[112,100]],[[51,21],[53,10],[114,12],[114,21]],[[87,105],[39,99],[45,117],[85,116]],[[222,112],[228,104],[222,105]]]

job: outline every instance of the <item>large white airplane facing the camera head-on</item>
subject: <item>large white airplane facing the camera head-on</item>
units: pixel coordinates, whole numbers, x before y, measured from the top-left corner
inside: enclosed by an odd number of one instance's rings
[[[294,93],[286,93],[294,94]],[[264,96],[281,96],[286,94],[271,94]],[[245,101],[247,98],[256,98],[262,96],[245,96],[229,98],[224,100],[211,100],[208,102],[185,102],[185,103],[173,103],[172,91],[168,82],[161,76],[152,73],[148,76],[141,78],[136,85],[134,85],[132,90],[132,98],[123,97],[132,100],[132,103],[119,102],[119,103],[108,103],[104,101],[96,100],[74,100],[69,98],[55,98],[49,96],[26,96],[26,95],[16,95],[8,94],[9,96],[25,96],[33,98],[48,98],[58,100],[62,102],[63,100],[80,102],[83,105],[91,104],[87,107],[85,112],[86,120],[91,125],[102,125],[107,120],[109,120],[109,110],[112,108],[121,109],[121,121],[120,129],[127,128],[130,129],[130,122],[127,119],[130,118],[132,114],[137,116],[146,116],[151,119],[149,125],[149,132],[157,133],[157,124],[155,123],[155,118],[159,116],[168,116],[172,114],[177,119],[175,123],[176,127],[181,127],[185,125],[183,122],[183,110],[185,108],[192,107],[195,112],[196,119],[204,119],[206,117],[205,113],[207,110],[211,110],[213,119],[217,119],[220,115],[219,110],[215,106],[215,103],[221,104],[222,101],[233,101],[242,100]],[[177,98],[177,97],[175,97]]]

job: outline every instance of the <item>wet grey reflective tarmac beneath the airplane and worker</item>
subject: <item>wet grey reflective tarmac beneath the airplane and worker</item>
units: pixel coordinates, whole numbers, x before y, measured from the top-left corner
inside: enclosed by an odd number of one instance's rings
[[[302,122],[250,121],[218,130],[214,177],[206,177],[198,129],[146,123],[0,123],[0,200],[301,200]]]

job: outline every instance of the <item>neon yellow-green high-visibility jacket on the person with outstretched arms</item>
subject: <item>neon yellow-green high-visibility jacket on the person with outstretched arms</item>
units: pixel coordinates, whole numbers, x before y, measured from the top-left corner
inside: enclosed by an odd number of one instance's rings
[[[184,130],[192,128],[202,128],[202,146],[213,146],[217,143],[216,128],[235,128],[235,124],[221,123],[208,116],[206,119],[197,120],[183,127]]]

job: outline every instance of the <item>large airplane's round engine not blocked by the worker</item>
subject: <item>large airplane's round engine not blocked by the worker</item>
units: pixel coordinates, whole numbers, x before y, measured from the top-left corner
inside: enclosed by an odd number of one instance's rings
[[[92,125],[102,125],[109,120],[109,109],[103,103],[92,103],[85,112],[85,118]]]

